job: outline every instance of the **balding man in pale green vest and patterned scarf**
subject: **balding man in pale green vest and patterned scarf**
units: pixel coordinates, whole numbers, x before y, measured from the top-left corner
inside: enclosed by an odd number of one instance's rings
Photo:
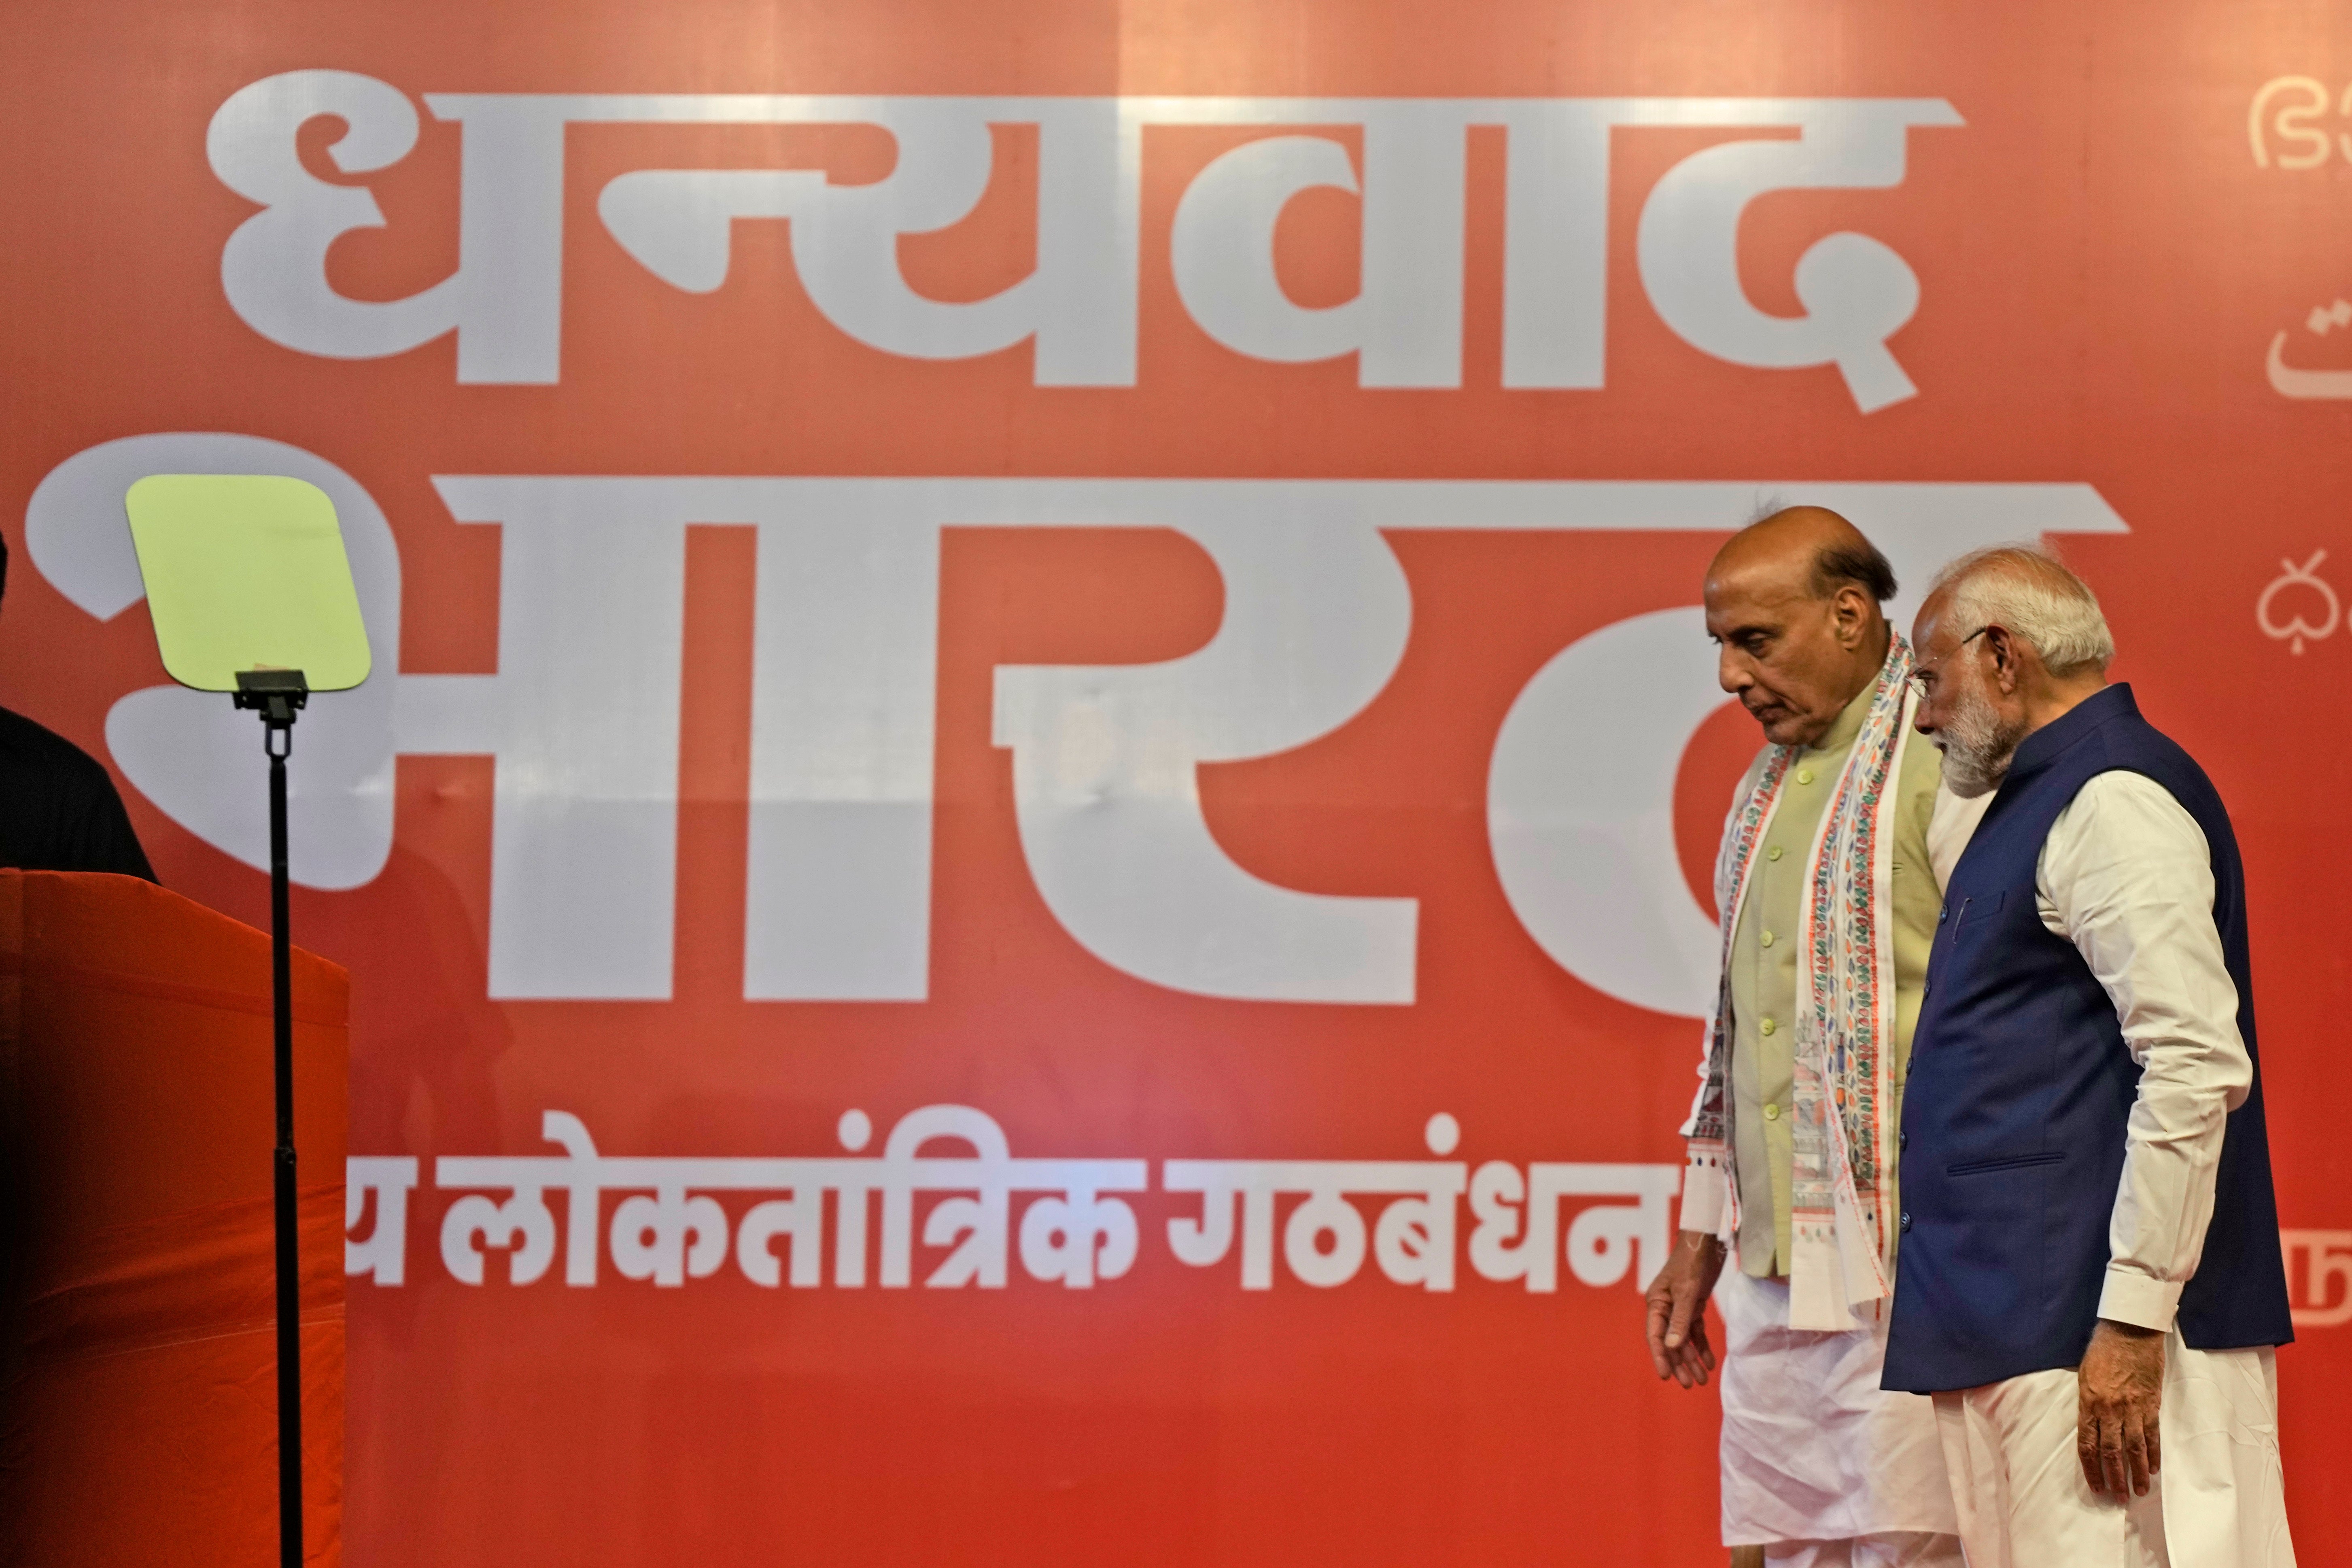
[[[1658,1378],[1696,1387],[1717,1366],[1710,1295],[1722,1309],[1733,1563],[1962,1563],[1933,1408],[1879,1389],[1896,1126],[1940,900],[1940,766],[1912,731],[1893,592],[1886,557],[1809,505],[1736,534],[1705,581],[1717,675],[1766,745],[1717,856],[1722,985],[1646,1331]]]

